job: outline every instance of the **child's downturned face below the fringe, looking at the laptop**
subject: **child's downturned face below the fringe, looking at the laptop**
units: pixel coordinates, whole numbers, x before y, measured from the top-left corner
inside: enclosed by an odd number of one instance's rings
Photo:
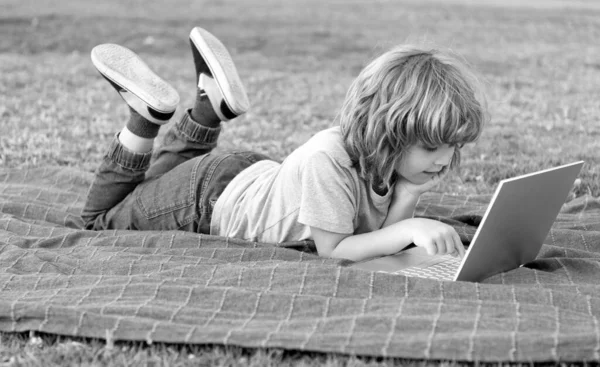
[[[418,143],[406,152],[396,172],[413,184],[424,184],[448,167],[455,149],[454,145],[448,144],[430,149]]]

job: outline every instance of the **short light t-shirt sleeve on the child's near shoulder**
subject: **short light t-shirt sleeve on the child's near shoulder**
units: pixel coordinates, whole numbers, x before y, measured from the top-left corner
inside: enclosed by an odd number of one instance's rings
[[[315,152],[306,157],[299,176],[298,221],[325,231],[354,233],[356,195],[349,169],[329,154]]]

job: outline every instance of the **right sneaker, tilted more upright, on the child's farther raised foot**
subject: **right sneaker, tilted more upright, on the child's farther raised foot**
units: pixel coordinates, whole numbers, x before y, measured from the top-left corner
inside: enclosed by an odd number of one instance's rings
[[[219,118],[228,121],[248,111],[248,95],[231,55],[221,41],[208,31],[195,27],[190,32],[190,45],[196,66],[198,88],[204,89],[209,99],[217,96],[218,99],[211,99],[211,103],[213,108],[216,106],[215,113]],[[210,78],[202,78],[203,74]],[[215,83],[201,85],[203,81],[210,79]],[[218,94],[206,90],[212,85],[217,87]]]

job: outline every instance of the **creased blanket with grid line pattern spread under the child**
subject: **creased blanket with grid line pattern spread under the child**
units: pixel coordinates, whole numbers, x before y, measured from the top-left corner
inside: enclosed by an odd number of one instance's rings
[[[369,272],[279,245],[86,231],[92,175],[0,170],[0,331],[465,361],[600,359],[600,200],[566,203],[537,260],[483,283]],[[489,195],[417,215],[470,241]],[[368,244],[365,244],[368,245]]]

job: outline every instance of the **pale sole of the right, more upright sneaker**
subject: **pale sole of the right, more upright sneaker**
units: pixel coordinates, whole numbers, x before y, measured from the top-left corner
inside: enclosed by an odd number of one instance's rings
[[[248,95],[231,55],[221,41],[200,27],[192,29],[190,41],[208,66],[231,113],[239,116],[248,111]]]

